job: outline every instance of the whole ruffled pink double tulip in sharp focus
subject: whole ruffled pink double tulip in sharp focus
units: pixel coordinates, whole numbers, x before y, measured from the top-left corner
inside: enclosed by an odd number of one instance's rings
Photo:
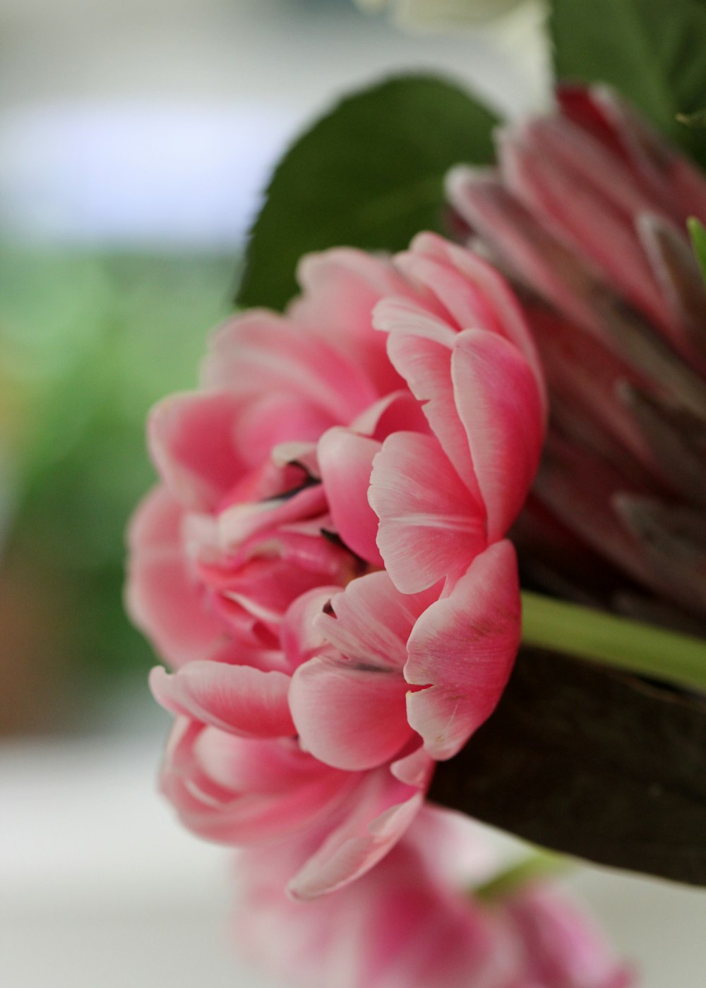
[[[177,669],[162,786],[228,844],[316,829],[308,898],[363,874],[434,760],[491,713],[519,642],[503,536],[537,466],[538,360],[502,280],[431,234],[305,259],[287,316],[215,337],[152,413],[162,485],[129,604]],[[382,330],[382,331],[381,331]]]

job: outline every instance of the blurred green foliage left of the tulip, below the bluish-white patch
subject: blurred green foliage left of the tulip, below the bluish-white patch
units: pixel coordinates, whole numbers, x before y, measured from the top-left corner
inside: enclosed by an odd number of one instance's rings
[[[21,604],[40,597],[28,612],[35,624],[45,616],[31,629],[32,662],[46,650],[66,676],[94,683],[153,664],[122,601],[126,524],[154,480],[144,419],[195,385],[232,267],[221,256],[0,248],[3,580],[21,572]]]

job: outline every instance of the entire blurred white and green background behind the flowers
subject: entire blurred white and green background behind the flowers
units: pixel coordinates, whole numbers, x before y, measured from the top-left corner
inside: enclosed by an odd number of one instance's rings
[[[351,0],[0,0],[7,988],[264,984],[228,946],[228,857],[154,791],[167,718],[123,613],[124,530],[153,477],[145,413],[195,383],[269,167],[337,95],[415,68],[507,113],[542,91],[520,23],[415,37]],[[701,983],[702,893],[574,883],[647,988]]]

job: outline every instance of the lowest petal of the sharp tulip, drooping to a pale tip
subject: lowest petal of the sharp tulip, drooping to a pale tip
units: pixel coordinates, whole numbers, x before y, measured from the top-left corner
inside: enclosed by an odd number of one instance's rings
[[[294,876],[289,894],[315,899],[369,871],[409,827],[423,806],[424,791],[398,782],[387,768],[368,773],[352,794],[353,812]]]

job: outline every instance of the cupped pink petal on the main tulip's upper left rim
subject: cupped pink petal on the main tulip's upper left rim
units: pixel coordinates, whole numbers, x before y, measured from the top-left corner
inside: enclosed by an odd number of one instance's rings
[[[165,398],[150,412],[152,459],[185,508],[212,511],[243,472],[234,438],[241,404],[225,392],[194,392]]]

